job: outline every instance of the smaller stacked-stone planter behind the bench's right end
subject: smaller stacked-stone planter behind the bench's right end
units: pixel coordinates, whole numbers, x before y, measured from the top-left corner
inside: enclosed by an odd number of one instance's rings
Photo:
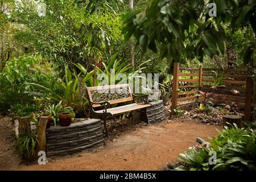
[[[152,107],[146,109],[147,121],[149,123],[161,122],[166,118],[164,114],[163,101],[150,102]]]

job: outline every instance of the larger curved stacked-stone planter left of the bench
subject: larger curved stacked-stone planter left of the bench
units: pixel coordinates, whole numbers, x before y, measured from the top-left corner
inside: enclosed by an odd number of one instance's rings
[[[67,155],[92,150],[104,144],[100,119],[89,119],[70,126],[50,127],[46,130],[47,156]]]

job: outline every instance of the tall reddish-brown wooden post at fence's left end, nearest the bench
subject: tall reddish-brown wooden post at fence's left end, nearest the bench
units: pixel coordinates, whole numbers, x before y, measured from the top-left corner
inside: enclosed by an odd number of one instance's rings
[[[174,109],[177,108],[177,92],[179,89],[179,72],[180,72],[180,65],[179,63],[174,63],[174,79],[172,80],[172,108],[171,114],[174,115]]]

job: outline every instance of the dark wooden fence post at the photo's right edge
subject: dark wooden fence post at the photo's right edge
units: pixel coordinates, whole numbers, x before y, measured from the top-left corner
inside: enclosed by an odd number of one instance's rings
[[[245,121],[251,121],[254,110],[254,80],[251,77],[251,68],[254,68],[254,60],[250,61],[250,67],[246,77],[245,91]]]

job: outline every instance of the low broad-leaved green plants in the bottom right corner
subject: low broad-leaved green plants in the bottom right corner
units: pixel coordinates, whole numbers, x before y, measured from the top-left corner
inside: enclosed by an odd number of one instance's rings
[[[232,128],[225,126],[218,137],[210,139],[210,146],[193,146],[179,160],[183,166],[176,170],[256,170],[256,131],[239,129],[236,124]],[[216,164],[210,164],[212,155],[216,152]]]

